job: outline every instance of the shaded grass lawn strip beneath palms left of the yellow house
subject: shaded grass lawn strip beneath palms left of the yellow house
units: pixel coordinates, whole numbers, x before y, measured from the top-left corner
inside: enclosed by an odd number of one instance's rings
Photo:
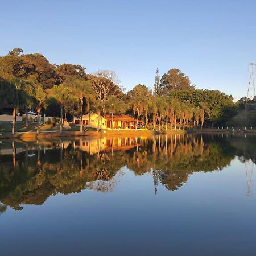
[[[25,126],[24,122],[16,122],[15,124],[15,131],[36,131],[37,129],[37,123],[29,123],[28,127]],[[70,125],[71,129],[64,129],[63,131],[80,131],[79,126],[75,125]],[[11,132],[11,128],[13,127],[13,124],[11,122],[5,122],[5,123],[0,123],[0,132]],[[59,131],[60,126],[52,126],[52,125],[47,125],[47,124],[42,124],[40,125],[40,131]],[[84,130],[84,129],[83,129]],[[90,129],[94,130],[94,129]]]

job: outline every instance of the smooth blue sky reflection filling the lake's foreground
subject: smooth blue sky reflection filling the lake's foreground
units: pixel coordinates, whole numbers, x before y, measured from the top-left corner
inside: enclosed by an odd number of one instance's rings
[[[253,255],[255,176],[245,164],[189,176],[177,191],[125,167],[110,193],[58,194],[0,216],[5,255]],[[253,191],[254,190],[254,191]],[[255,192],[255,193],[254,193]],[[15,246],[13,246],[15,243]]]

